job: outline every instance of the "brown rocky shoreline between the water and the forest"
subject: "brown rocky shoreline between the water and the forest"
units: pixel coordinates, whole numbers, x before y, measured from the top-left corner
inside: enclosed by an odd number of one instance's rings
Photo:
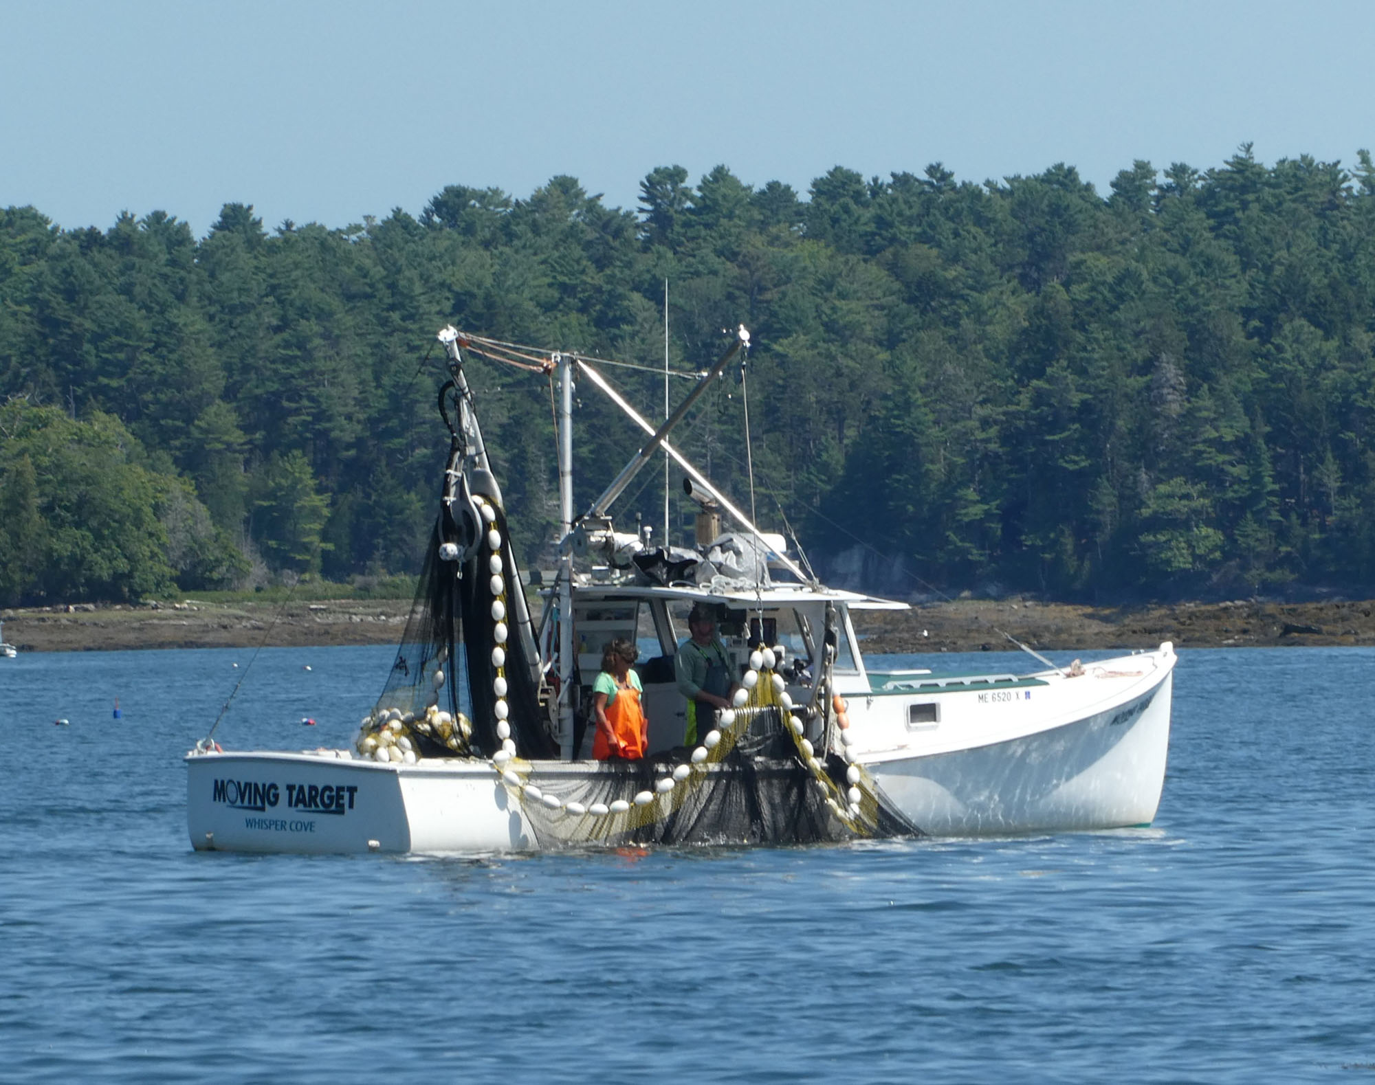
[[[155,606],[74,604],[7,610],[4,637],[29,651],[238,648],[396,644],[410,600],[312,603],[183,600]],[[1001,651],[1002,633],[1038,650],[1090,651],[1375,644],[1375,602],[1174,603],[1086,607],[964,599],[910,611],[862,611],[855,626],[869,652]]]

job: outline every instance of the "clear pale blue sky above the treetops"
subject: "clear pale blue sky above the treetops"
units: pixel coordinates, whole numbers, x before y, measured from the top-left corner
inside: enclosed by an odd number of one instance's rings
[[[0,0],[0,206],[63,227],[227,201],[342,227],[446,184],[726,163],[806,194],[942,161],[961,180],[1136,158],[1353,162],[1372,3],[692,4]]]

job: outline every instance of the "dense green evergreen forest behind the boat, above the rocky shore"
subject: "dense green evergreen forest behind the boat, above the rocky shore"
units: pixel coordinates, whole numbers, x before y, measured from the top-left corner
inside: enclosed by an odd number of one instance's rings
[[[1107,194],[1067,165],[837,166],[806,194],[663,166],[635,210],[558,176],[341,229],[231,203],[199,239],[164,212],[7,207],[0,604],[414,573],[448,446],[434,332],[635,363],[602,372],[661,418],[666,283],[674,402],[723,330],[752,335],[675,444],[833,580],[1375,585],[1375,165],[1243,146],[1138,161]],[[469,376],[520,551],[547,563],[550,380]],[[575,424],[586,505],[642,435],[587,380]],[[613,511],[657,537],[663,508],[660,461]]]

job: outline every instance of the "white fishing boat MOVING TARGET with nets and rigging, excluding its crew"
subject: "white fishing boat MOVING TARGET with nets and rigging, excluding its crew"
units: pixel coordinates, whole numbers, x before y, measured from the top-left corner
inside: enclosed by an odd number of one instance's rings
[[[1106,830],[1152,821],[1173,646],[1027,672],[870,669],[852,615],[908,604],[821,584],[668,435],[736,360],[744,327],[657,427],[582,354],[439,334],[450,453],[415,606],[349,749],[186,755],[192,847],[481,853],[630,843],[842,842]],[[476,360],[558,378],[558,569],[536,619],[466,376]],[[578,514],[573,380],[646,434]],[[620,532],[612,508],[659,455],[698,503],[693,547]],[[732,530],[719,533],[720,518]],[[675,654],[690,607],[716,618],[730,707],[689,721]],[[590,757],[602,646],[644,650],[648,755]],[[1028,650],[1030,651],[1030,650]],[[1034,655],[1034,652],[1033,652]],[[216,721],[219,722],[219,721]],[[700,725],[698,725],[700,724]]]

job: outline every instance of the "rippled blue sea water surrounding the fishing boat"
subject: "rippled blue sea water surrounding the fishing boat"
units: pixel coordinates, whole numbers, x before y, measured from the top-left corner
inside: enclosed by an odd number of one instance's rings
[[[1182,652],[1150,830],[197,854],[180,757],[250,655],[0,661],[0,1080],[1375,1074],[1375,651]],[[217,738],[346,744],[390,659],[264,650]]]

